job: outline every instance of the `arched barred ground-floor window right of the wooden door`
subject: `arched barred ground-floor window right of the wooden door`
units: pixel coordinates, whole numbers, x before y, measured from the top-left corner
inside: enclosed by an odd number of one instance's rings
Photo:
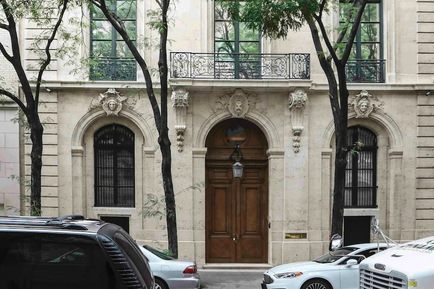
[[[367,128],[348,128],[348,153],[345,170],[345,207],[375,208],[377,205],[377,137]]]

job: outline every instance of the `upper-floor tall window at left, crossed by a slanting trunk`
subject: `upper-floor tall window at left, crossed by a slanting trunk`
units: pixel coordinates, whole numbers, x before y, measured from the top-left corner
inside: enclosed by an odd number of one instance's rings
[[[128,36],[136,42],[136,6],[133,0],[106,1],[125,25]],[[136,62],[104,14],[98,8],[91,13],[91,79],[135,80]]]

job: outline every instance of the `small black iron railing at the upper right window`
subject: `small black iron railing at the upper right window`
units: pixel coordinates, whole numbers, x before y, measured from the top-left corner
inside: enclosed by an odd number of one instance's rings
[[[345,66],[347,82],[385,82],[386,60],[348,60]]]

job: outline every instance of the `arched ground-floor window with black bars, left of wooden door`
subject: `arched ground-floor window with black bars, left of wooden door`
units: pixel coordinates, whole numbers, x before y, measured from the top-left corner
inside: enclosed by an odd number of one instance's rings
[[[111,124],[94,140],[95,207],[134,207],[134,133]]]

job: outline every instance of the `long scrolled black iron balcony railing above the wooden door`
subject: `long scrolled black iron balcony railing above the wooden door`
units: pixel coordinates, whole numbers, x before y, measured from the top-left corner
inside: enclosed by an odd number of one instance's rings
[[[310,54],[170,53],[172,78],[310,79]]]

